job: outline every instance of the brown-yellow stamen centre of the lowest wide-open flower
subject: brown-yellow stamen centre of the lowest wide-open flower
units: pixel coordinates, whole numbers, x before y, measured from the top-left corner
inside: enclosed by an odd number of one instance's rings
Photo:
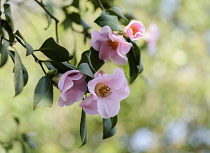
[[[97,84],[95,87],[95,92],[98,96],[104,98],[111,95],[111,89],[105,84]]]

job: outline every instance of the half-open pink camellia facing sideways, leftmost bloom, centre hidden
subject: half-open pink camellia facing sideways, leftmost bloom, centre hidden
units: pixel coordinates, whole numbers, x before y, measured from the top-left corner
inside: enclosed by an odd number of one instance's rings
[[[77,101],[82,100],[87,90],[86,75],[78,70],[70,70],[61,75],[58,82],[58,88],[61,91],[58,100],[59,106],[70,106]]]

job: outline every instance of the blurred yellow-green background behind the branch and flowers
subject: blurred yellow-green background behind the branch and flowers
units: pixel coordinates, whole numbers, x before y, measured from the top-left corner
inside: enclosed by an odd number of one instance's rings
[[[25,1],[11,0],[15,29],[36,49],[55,36],[54,23],[44,30],[47,21],[43,10],[34,1]],[[58,8],[69,1],[50,2],[57,6],[55,15],[63,21]],[[93,21],[101,10],[94,12],[87,3],[82,2],[82,8],[88,9],[83,18],[92,26],[90,32],[100,30]],[[114,4],[132,13],[146,29],[155,23],[160,30],[155,56],[147,48],[142,50],[144,71],[131,85],[130,96],[121,102],[116,135],[102,140],[100,115],[87,115],[88,143],[79,148],[79,103],[59,107],[57,89],[51,108],[33,111],[33,92],[44,74],[17,44],[29,82],[14,97],[12,61],[0,69],[1,142],[9,142],[19,131],[35,143],[32,153],[210,153],[210,1],[116,0]],[[60,44],[71,53],[76,48],[78,60],[90,47],[89,42],[83,43],[81,34],[62,27],[59,37]],[[141,45],[142,40],[137,43]],[[115,67],[107,63],[103,70],[112,73]],[[19,126],[13,117],[19,118]],[[19,142],[14,142],[10,152],[22,152]],[[0,153],[5,153],[1,145]]]

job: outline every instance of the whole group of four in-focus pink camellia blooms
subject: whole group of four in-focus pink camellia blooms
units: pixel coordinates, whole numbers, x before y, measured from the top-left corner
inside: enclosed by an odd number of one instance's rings
[[[118,65],[124,65],[128,60],[126,54],[132,47],[126,40],[140,39],[144,31],[144,25],[134,20],[124,28],[123,35],[120,35],[121,32],[112,32],[109,26],[104,26],[100,32],[94,30],[91,33],[90,43],[92,48],[99,52],[100,60],[107,62],[110,59]],[[90,95],[79,106],[86,113],[100,114],[102,118],[116,116],[120,109],[120,101],[130,93],[125,74],[120,68],[116,68],[112,74],[100,70],[88,83],[86,75],[78,70],[70,70],[62,74],[58,88],[61,91],[59,106],[70,106],[81,101],[84,94],[89,92]]]

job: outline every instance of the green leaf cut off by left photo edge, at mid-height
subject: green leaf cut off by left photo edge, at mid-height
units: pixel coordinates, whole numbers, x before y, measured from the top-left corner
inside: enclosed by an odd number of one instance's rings
[[[8,59],[8,47],[9,47],[9,43],[7,41],[4,42],[3,45],[0,46],[1,50],[0,50],[0,67],[4,66],[4,64],[7,62]]]

